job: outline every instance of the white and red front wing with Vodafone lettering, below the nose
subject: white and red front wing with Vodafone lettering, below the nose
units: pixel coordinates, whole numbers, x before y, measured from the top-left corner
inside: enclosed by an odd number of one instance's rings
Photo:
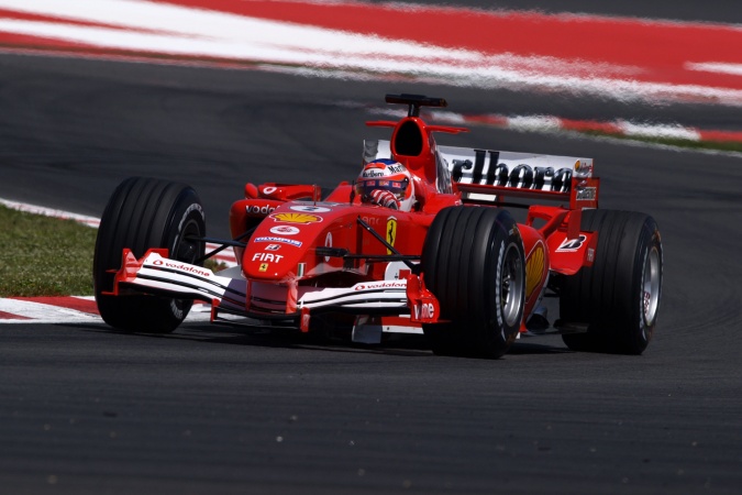
[[[351,287],[291,286],[250,282],[241,274],[235,277],[218,275],[202,266],[167,256],[166,249],[152,249],[137,260],[125,249],[113,289],[104,294],[120,297],[151,294],[203,300],[211,304],[212,321],[220,311],[257,319],[299,318],[302,331],[309,330],[312,314],[329,311],[407,316],[417,326],[439,321],[439,302],[417,275],[398,280],[364,282]],[[266,294],[274,299],[269,310],[265,305]]]

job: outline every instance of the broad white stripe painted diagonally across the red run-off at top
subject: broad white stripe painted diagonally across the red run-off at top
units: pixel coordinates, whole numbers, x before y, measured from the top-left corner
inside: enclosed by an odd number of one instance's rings
[[[136,0],[0,0],[0,7],[59,19],[0,20],[0,31],[106,50],[303,65],[480,88],[533,87],[623,101],[690,98],[742,106],[742,90],[617,78],[625,67],[552,56],[481,53],[377,35],[268,21],[214,10]],[[107,25],[67,23],[81,21]],[[122,29],[123,28],[123,29]]]

